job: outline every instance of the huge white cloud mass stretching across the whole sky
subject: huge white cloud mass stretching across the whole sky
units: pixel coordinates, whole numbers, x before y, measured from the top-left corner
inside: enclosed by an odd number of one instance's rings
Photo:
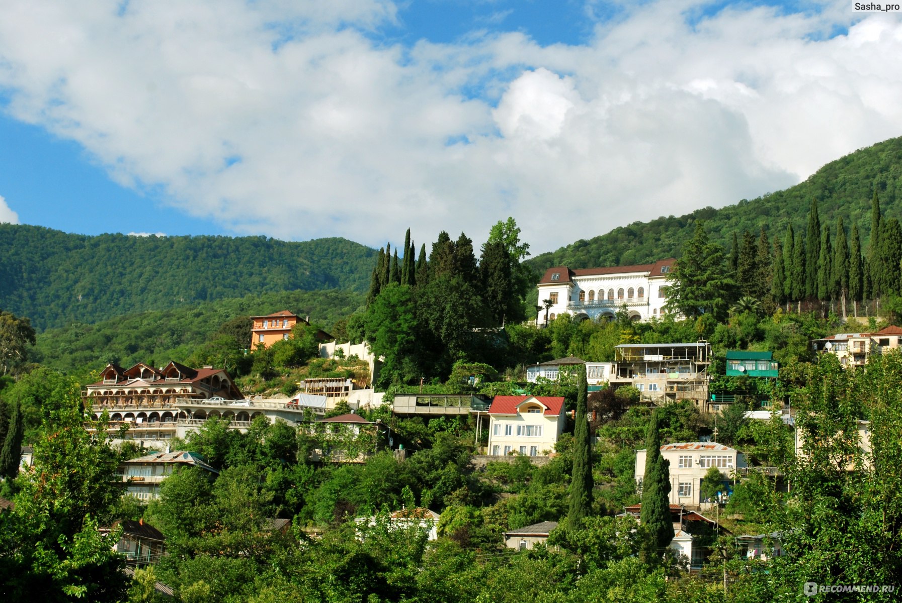
[[[8,114],[235,233],[478,242],[513,215],[546,251],[898,135],[902,25],[846,5],[667,0],[584,45],[405,48],[373,41],[397,23],[387,1],[11,0],[0,87]]]

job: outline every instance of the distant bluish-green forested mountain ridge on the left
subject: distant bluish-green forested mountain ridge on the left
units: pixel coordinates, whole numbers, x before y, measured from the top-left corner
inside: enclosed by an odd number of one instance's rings
[[[42,330],[250,293],[363,292],[374,253],[339,238],[86,236],[0,224],[0,308]]]

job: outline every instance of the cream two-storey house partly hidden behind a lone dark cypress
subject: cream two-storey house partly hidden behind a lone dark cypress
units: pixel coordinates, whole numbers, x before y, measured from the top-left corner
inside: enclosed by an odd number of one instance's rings
[[[636,483],[642,483],[646,451],[636,451]],[[716,467],[724,479],[737,468],[748,467],[745,455],[735,448],[713,442],[667,443],[661,446],[661,456],[670,461],[670,503],[684,507],[713,507],[716,501],[703,499],[701,493],[704,474]],[[723,480],[723,498],[732,492],[732,482]]]

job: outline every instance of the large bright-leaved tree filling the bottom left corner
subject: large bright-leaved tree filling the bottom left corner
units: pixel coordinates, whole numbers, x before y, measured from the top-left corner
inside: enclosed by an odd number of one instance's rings
[[[96,514],[118,497],[118,459],[83,426],[78,396],[46,405],[34,467],[17,480],[14,511],[0,513],[0,594],[5,600],[120,601],[127,580]],[[106,424],[96,425],[106,433]]]

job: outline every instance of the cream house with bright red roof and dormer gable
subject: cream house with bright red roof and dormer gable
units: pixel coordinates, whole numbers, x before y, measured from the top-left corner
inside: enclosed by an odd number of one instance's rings
[[[489,419],[490,454],[545,456],[564,431],[564,397],[496,396]]]

